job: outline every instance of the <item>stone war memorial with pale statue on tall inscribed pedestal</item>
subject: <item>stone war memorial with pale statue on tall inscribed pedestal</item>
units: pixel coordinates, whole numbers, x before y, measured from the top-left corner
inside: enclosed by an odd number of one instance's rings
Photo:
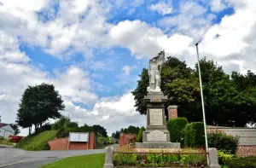
[[[180,148],[179,142],[170,141],[170,132],[166,129],[164,96],[160,89],[160,70],[165,61],[165,51],[149,61],[148,94],[144,96],[147,106],[147,128],[143,132],[143,142],[137,142],[137,148]]]

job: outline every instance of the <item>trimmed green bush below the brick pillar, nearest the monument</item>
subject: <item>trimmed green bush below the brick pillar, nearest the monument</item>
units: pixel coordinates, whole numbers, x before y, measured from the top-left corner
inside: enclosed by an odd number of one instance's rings
[[[167,122],[167,129],[170,132],[171,142],[180,142],[183,147],[184,128],[186,125],[188,125],[188,119],[186,118],[171,119]]]

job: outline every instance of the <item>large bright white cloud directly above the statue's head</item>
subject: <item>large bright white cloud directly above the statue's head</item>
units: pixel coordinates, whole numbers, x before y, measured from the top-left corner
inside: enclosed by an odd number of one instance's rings
[[[113,43],[131,50],[132,55],[137,58],[151,58],[160,50],[166,52],[180,53],[188,49],[192,38],[181,34],[173,34],[167,37],[159,28],[149,26],[140,20],[125,20],[113,26],[110,30],[110,37]]]

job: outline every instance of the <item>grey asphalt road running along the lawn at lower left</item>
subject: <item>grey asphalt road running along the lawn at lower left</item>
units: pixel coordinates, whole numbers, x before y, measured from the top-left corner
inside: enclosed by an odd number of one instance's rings
[[[105,153],[105,149],[32,152],[19,148],[0,146],[0,168],[37,168],[40,165],[46,165],[57,159],[101,153]]]

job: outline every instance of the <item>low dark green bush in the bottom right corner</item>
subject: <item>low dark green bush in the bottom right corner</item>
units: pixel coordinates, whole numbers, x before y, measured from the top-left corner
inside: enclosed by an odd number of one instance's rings
[[[226,161],[225,165],[229,168],[255,168],[256,157],[230,159]]]

